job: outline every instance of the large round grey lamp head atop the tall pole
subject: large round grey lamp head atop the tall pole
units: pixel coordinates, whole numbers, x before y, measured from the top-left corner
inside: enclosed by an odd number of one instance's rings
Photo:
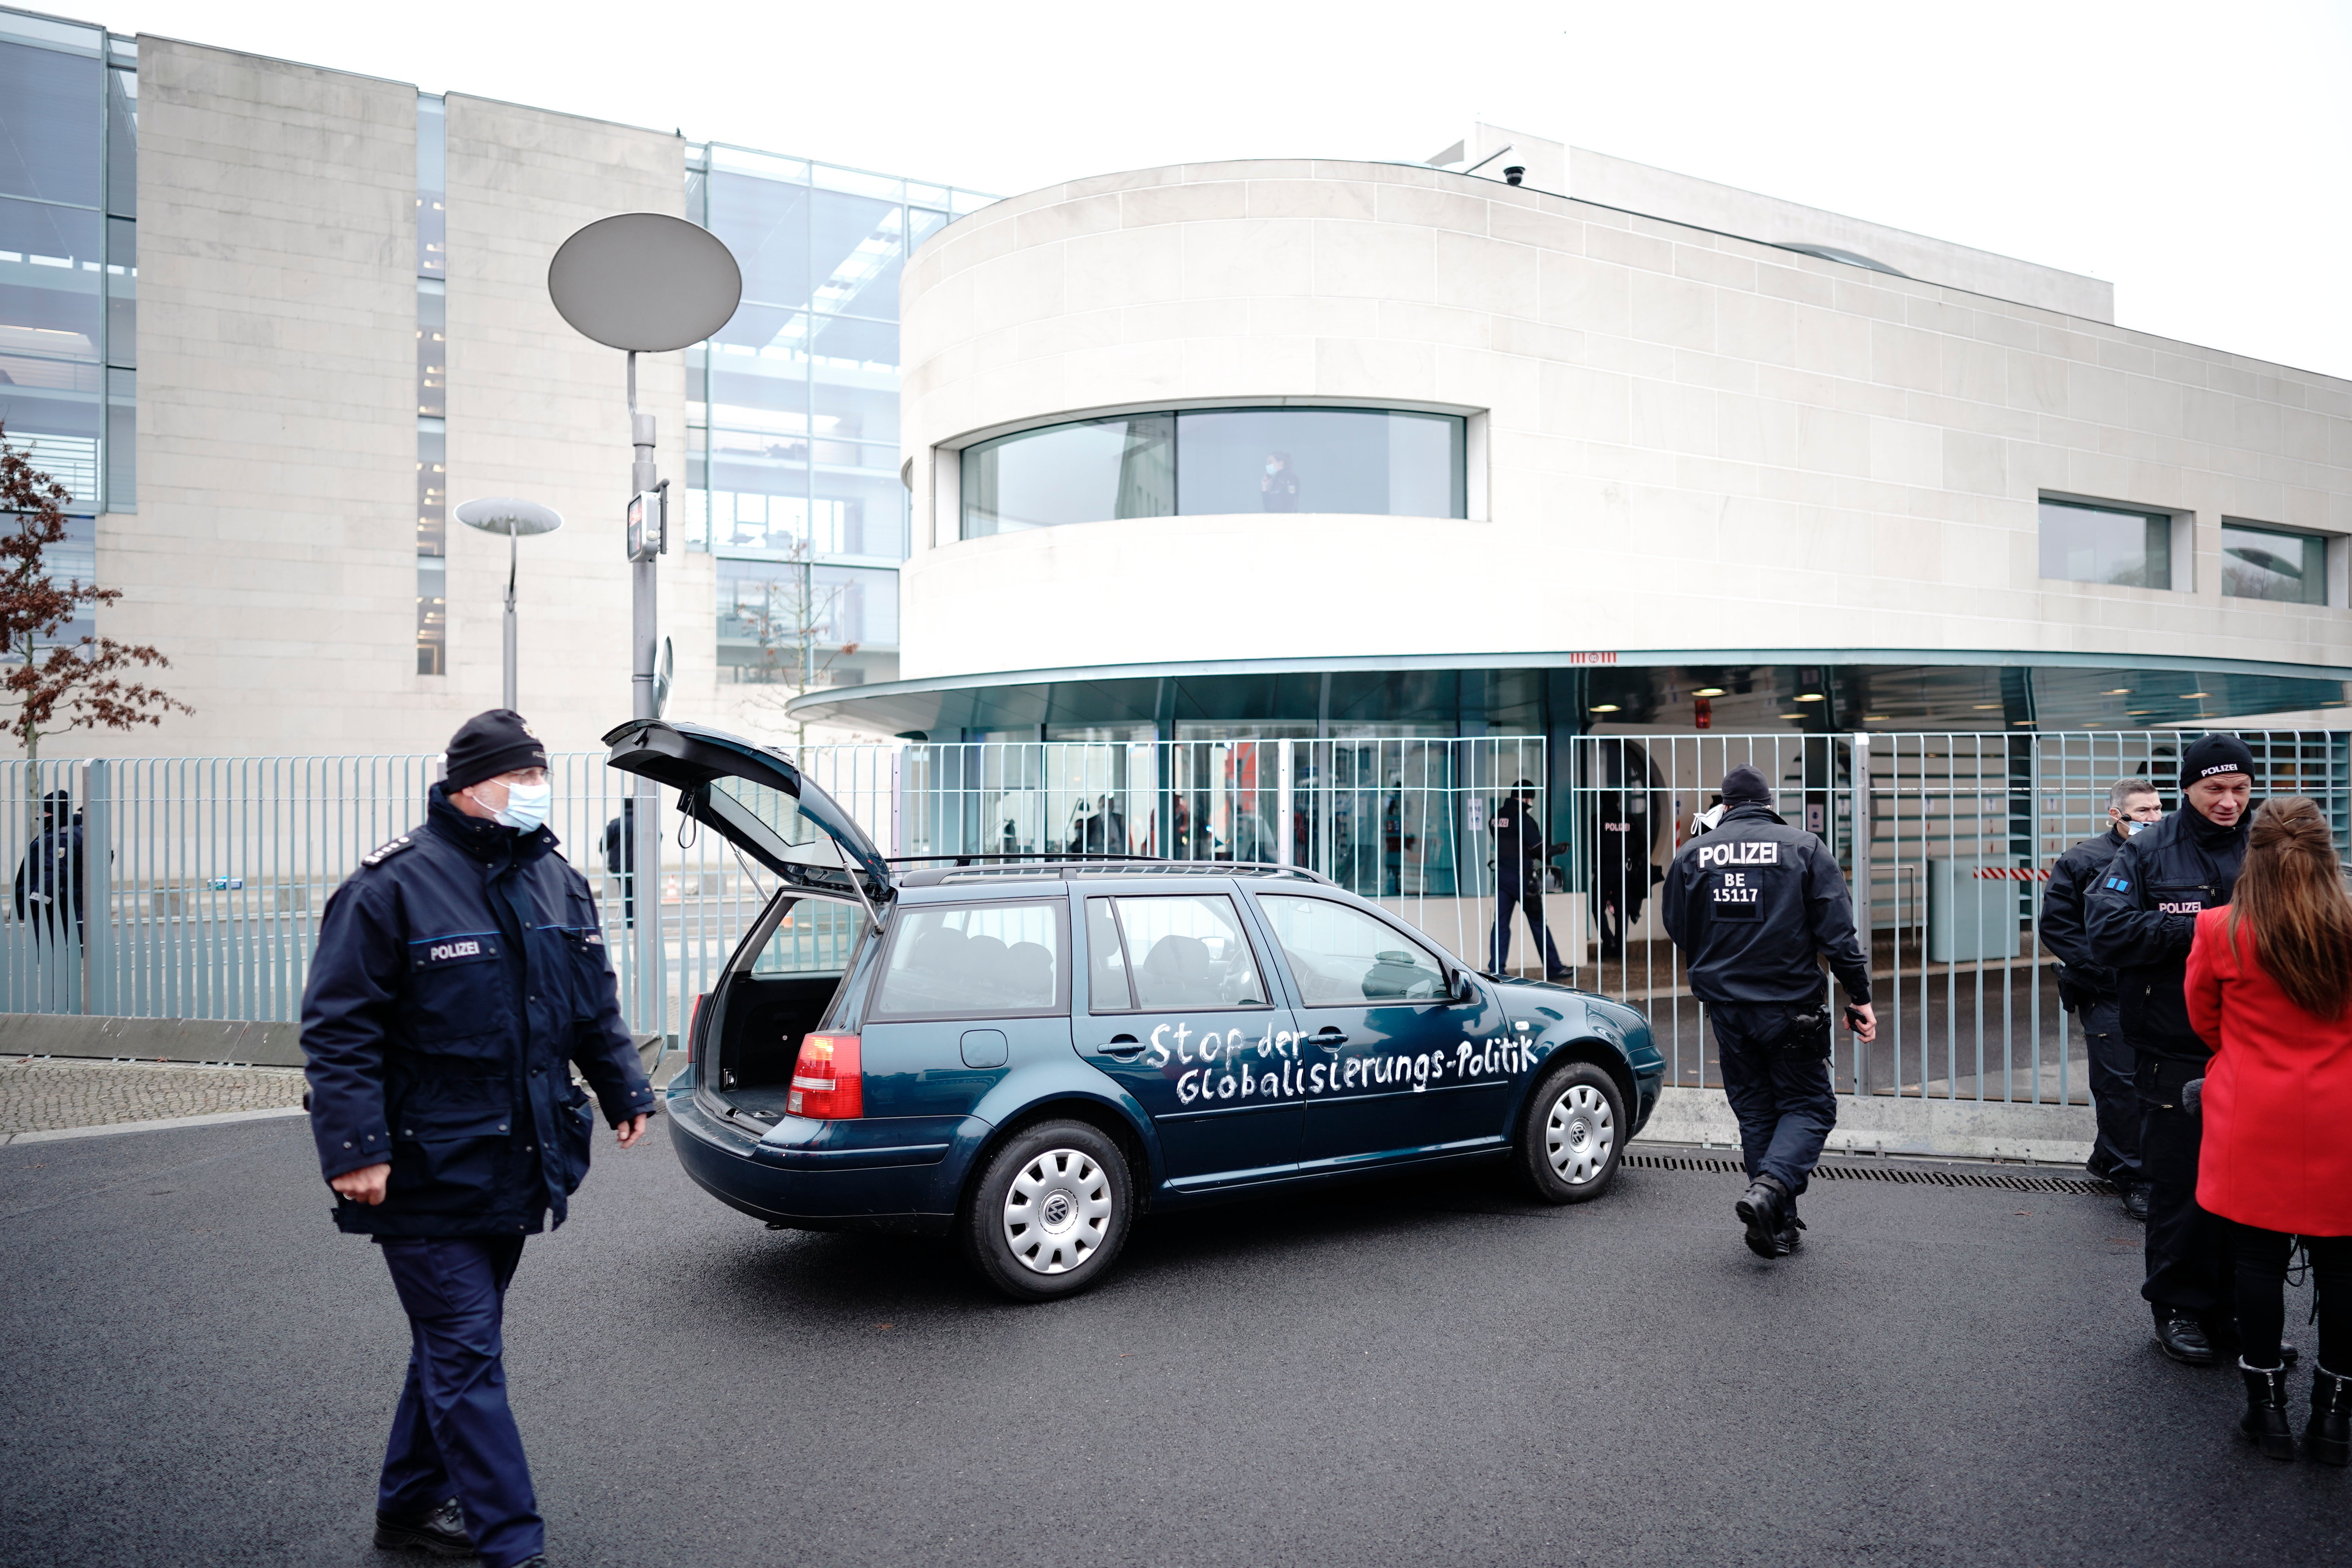
[[[668,353],[727,324],[743,299],[743,270],[699,223],[621,212],[562,242],[548,263],[548,294],[581,336]]]

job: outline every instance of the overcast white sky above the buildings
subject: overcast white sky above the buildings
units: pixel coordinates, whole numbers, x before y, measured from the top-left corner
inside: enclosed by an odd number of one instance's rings
[[[52,7],[997,195],[1418,162],[1477,118],[2091,273],[2126,327],[2352,376],[2352,0]]]

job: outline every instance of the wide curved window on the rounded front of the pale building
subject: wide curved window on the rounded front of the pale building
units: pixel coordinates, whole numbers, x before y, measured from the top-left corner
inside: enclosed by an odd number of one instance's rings
[[[1465,517],[1465,423],[1392,409],[1183,409],[964,449],[964,538],[1117,517]]]

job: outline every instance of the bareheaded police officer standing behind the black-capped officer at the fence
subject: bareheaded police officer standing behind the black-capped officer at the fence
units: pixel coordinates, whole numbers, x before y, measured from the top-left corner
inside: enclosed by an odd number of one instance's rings
[[[2084,839],[2058,856],[2049,889],[2042,893],[2042,945],[2058,954],[2058,1001],[2082,1023],[2084,1053],[2091,1058],[2091,1107],[2098,1138],[2086,1168],[2114,1182],[2124,1213],[2147,1220],[2147,1178],[2140,1175],[2140,1093],[2131,1084],[2131,1046],[2117,1018],[2114,971],[2091,961],[2091,931],[2084,924],[2084,898],[2098,886],[2124,839],[2145,832],[2164,818],[2157,785],[2145,778],[2119,778],[2107,790],[2107,832]]]

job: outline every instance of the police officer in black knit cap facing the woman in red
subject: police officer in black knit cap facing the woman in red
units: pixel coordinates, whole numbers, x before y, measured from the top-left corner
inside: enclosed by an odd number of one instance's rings
[[[2176,1361],[2211,1366],[2237,1354],[2237,1316],[2223,1272],[2225,1225],[2197,1206],[2201,1128],[2183,1086],[2204,1077],[2206,1044],[2190,1027],[2190,940],[2197,910],[2230,903],[2246,863],[2253,752],[2237,736],[2206,736],[2180,757],[2180,809],[2126,839],[2091,889],[2091,961],[2114,971],[2117,1018],[2140,1091],[2140,1173],[2147,1180],[2147,1281],[2140,1298],[2157,1345]]]

